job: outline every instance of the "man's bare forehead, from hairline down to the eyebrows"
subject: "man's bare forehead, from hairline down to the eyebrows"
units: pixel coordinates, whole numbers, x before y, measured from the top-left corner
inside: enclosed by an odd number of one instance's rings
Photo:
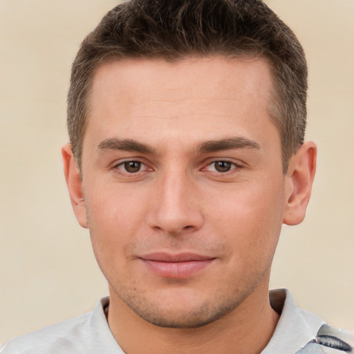
[[[245,135],[252,125],[270,123],[272,77],[266,59],[189,57],[175,62],[124,59],[95,73],[88,131],[100,138],[180,136],[207,140]],[[203,136],[203,139],[202,137]],[[155,139],[156,140],[156,139]],[[192,140],[191,140],[192,141]]]

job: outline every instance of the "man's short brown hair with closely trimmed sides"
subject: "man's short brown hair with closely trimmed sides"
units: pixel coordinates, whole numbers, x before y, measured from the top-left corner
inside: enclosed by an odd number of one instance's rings
[[[81,169],[93,75],[102,62],[127,58],[262,56],[274,78],[270,104],[284,173],[304,143],[307,65],[286,24],[261,0],[130,0],[109,11],[82,42],[68,91],[68,132]]]

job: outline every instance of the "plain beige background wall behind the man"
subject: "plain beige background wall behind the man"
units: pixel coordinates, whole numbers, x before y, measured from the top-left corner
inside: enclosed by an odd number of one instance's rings
[[[71,62],[115,2],[0,0],[0,343],[80,315],[106,295],[59,151]],[[308,55],[308,139],[319,147],[308,218],[283,228],[271,286],[354,329],[354,1],[267,3]]]

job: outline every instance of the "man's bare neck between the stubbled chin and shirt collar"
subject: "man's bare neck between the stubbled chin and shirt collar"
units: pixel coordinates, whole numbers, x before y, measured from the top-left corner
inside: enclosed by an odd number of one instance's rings
[[[109,326],[127,354],[261,353],[279,319],[269,303],[268,281],[264,282],[231,313],[199,328],[150,324],[110,291]]]

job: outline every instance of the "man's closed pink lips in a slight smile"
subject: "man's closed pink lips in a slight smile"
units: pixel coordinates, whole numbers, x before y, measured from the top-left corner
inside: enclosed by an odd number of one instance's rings
[[[207,268],[215,258],[194,253],[152,253],[140,257],[147,269],[159,277],[182,279]]]

